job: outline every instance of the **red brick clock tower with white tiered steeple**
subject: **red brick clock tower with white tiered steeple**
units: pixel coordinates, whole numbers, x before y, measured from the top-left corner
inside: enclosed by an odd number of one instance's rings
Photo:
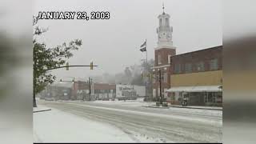
[[[173,27],[170,26],[170,15],[166,14],[162,6],[162,14],[158,15],[158,46],[154,48],[154,72],[153,98],[158,99],[160,93],[162,97],[168,97],[166,90],[170,89],[170,57],[176,54],[173,46]],[[161,74],[159,74],[161,72]],[[159,76],[161,75],[161,86]],[[161,87],[161,88],[160,88]]]

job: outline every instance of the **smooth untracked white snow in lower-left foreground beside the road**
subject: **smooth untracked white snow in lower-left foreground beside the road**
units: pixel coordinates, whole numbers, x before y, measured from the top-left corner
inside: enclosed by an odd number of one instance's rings
[[[128,134],[100,122],[78,117],[53,108],[34,110],[34,142],[134,142]]]

